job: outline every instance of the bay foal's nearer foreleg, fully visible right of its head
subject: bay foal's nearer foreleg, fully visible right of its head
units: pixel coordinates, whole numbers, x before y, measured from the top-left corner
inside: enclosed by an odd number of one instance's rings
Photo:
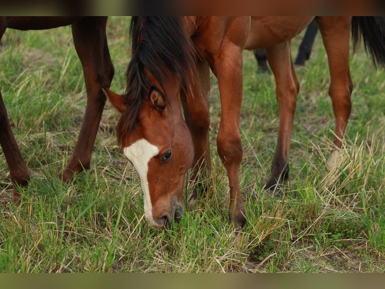
[[[239,133],[242,103],[242,49],[228,44],[214,63],[221,97],[221,122],[217,150],[229,178],[229,220],[236,228],[246,222],[245,208],[239,187],[239,167],[242,161],[242,142]]]

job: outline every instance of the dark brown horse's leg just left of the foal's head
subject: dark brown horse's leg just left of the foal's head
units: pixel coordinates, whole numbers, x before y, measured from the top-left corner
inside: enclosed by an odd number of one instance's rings
[[[114,76],[106,24],[107,17],[86,17],[72,24],[73,41],[83,66],[87,105],[72,157],[59,174],[64,182],[90,166],[93,144],[106,103],[102,87],[109,88]]]

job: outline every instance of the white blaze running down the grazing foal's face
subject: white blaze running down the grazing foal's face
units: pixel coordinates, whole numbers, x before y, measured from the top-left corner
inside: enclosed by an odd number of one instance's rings
[[[142,190],[144,193],[144,213],[146,219],[153,223],[152,217],[152,203],[150,197],[150,189],[148,187],[147,172],[148,162],[150,159],[159,154],[159,149],[142,138],[135,141],[131,146],[123,149],[123,154],[134,165],[138,172]]]

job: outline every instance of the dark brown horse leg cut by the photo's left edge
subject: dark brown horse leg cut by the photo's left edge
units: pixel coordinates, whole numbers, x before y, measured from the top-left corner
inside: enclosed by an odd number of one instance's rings
[[[6,17],[0,19],[0,41],[7,29]],[[20,153],[15,136],[12,133],[11,125],[8,120],[8,113],[0,93],[0,144],[3,148],[4,155],[10,170],[11,181],[19,186],[27,186],[29,180],[28,168]],[[20,193],[13,193],[13,200],[18,201]]]

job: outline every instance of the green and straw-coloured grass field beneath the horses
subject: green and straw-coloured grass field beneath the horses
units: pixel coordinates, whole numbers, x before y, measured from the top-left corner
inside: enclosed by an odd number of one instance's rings
[[[123,92],[130,60],[129,19],[108,25]],[[293,43],[293,55],[302,35]],[[208,195],[172,229],[150,229],[133,167],[117,147],[119,114],[107,103],[91,168],[63,185],[86,94],[70,27],[7,30],[0,47],[0,87],[31,182],[21,204],[0,154],[0,272],[383,272],[385,270],[385,73],[362,46],[351,57],[353,109],[338,166],[327,161],[334,116],[320,35],[301,84],[291,147],[291,175],[281,198],[261,193],[278,127],[274,79],[244,52],[240,180],[247,210],[242,234],[227,217],[229,188],[215,147],[219,93],[211,88],[213,171]],[[191,185],[185,189],[185,195]]]

